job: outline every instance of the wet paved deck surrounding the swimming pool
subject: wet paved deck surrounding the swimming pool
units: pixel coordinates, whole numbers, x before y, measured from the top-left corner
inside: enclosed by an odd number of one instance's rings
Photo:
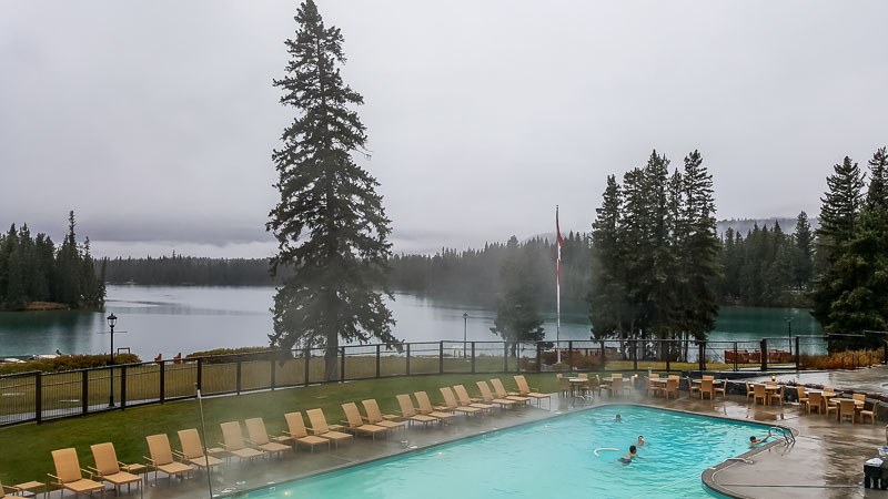
[[[882,371],[884,373],[884,371]],[[875,374],[875,373],[874,373]],[[314,454],[300,448],[289,456],[260,459],[256,462],[238,464],[236,459],[221,472],[210,477],[213,493],[223,490],[236,492],[254,489],[272,482],[282,482],[322,471],[381,459],[411,451],[411,447],[423,448],[437,444],[472,437],[500,428],[537,421],[558,414],[584,410],[606,404],[640,404],[695,414],[727,417],[765,425],[785,426],[796,432],[794,445],[783,440],[756,449],[745,457],[747,461],[730,461],[708,469],[704,475],[723,493],[741,498],[888,498],[888,492],[865,489],[862,464],[876,455],[877,446],[886,444],[884,422],[876,425],[837,422],[834,416],[805,414],[796,404],[784,406],[754,406],[744,396],[726,399],[699,400],[690,398],[686,390],[676,400],[650,398],[644,390],[635,390],[624,397],[596,397],[592,404],[573,405],[573,399],[552,395],[552,407],[531,407],[497,411],[490,417],[457,416],[451,425],[416,425],[406,431],[396,430],[389,438],[371,440],[360,437],[343,442],[339,448],[317,448]],[[69,493],[70,496],[70,493]],[[133,490],[128,497],[139,497]],[[53,492],[50,497],[59,497]],[[145,487],[144,497],[150,499],[179,499],[210,497],[205,472],[196,472],[190,479],[173,480],[165,477],[154,480],[153,475]]]

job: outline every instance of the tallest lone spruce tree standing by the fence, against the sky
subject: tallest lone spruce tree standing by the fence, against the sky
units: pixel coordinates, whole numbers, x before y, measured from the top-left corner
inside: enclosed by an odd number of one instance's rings
[[[336,379],[340,338],[400,342],[383,302],[391,243],[379,183],[355,164],[366,154],[365,128],[354,106],[363,98],[343,83],[345,63],[339,28],[324,26],[317,7],[297,10],[296,35],[286,40],[281,104],[296,112],[274,160],[281,201],[266,228],[278,238],[272,273],[292,269],[274,296],[272,345],[325,348],[324,378]]]

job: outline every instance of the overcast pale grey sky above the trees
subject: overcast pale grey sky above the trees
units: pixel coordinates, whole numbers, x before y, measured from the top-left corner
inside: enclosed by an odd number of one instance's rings
[[[888,143],[888,3],[319,1],[395,251],[587,231],[607,174],[699,149],[718,217],[819,212]],[[0,0],[0,224],[100,255],[264,256],[295,1]]]

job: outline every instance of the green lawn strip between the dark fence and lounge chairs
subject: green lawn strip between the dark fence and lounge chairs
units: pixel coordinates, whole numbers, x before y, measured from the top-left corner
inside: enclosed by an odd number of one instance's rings
[[[320,363],[319,363],[320,364]],[[347,363],[346,363],[347,366]],[[435,369],[437,360],[435,360]],[[553,374],[527,374],[534,388],[557,391]],[[204,398],[206,444],[221,440],[219,424],[262,417],[270,434],[285,428],[283,415],[294,410],[320,407],[330,422],[343,419],[341,404],[375,398],[383,413],[395,413],[395,395],[426,390],[433,400],[440,399],[438,388],[464,384],[471,394],[477,393],[475,381],[498,377],[506,387],[515,387],[512,374],[465,374],[432,376],[398,376],[343,384],[313,385],[259,394]],[[81,467],[92,466],[90,445],[111,441],[118,458],[124,462],[143,462],[148,454],[144,437],[168,434],[173,448],[179,448],[175,432],[185,428],[200,428],[200,411],[195,400],[128,408],[78,417],[42,425],[24,424],[0,428],[2,468],[0,481],[20,483],[29,480],[46,481],[47,472],[54,472],[50,451],[74,447]]]

